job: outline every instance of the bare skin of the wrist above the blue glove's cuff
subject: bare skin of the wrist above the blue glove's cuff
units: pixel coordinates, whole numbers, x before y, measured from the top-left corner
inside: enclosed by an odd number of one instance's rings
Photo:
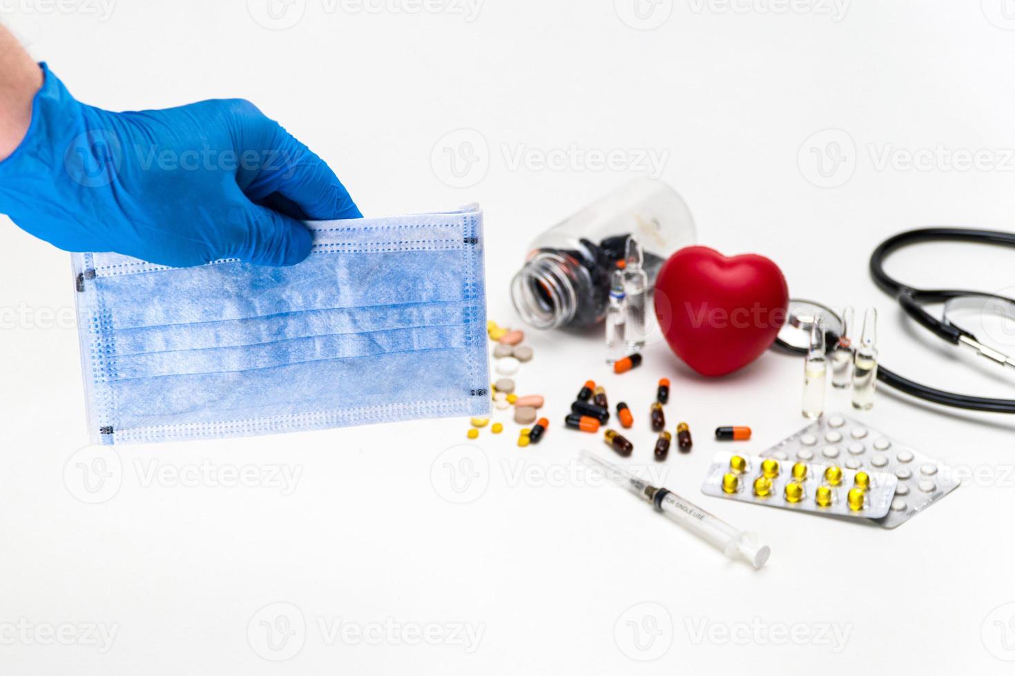
[[[0,25],[0,160],[14,152],[27,133],[31,99],[42,86],[42,69]]]

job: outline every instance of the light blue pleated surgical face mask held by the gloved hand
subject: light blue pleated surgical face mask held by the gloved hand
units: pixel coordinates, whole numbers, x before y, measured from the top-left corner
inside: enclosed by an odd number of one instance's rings
[[[489,412],[482,213],[308,226],[291,268],[74,254],[94,443]]]

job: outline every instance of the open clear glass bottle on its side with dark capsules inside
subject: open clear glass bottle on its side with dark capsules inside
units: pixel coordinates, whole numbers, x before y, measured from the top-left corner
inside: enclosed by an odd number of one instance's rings
[[[694,243],[694,219],[676,191],[650,178],[586,207],[530,245],[511,289],[522,319],[536,328],[587,328],[601,321],[630,237],[640,245],[652,288],[666,259]]]

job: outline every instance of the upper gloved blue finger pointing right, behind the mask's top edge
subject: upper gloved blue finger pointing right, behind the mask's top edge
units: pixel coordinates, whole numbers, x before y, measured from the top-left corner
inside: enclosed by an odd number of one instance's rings
[[[253,179],[243,186],[247,197],[294,218],[335,220],[362,218],[349,192],[324,160],[275,125],[273,150]]]

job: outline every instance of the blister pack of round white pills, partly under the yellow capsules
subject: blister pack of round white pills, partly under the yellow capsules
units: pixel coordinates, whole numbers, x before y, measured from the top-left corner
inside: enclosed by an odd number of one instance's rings
[[[890,473],[898,479],[888,514],[874,523],[895,528],[958,487],[949,468],[905,443],[847,416],[822,417],[768,450],[780,460],[841,462],[850,469]]]

